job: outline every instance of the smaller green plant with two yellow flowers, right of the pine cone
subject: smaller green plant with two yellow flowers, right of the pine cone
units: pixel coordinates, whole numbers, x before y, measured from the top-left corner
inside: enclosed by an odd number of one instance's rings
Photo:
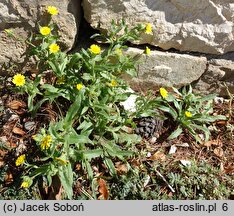
[[[181,91],[172,88],[174,93],[160,88],[161,97],[155,99],[155,105],[176,123],[177,129],[171,133],[168,139],[178,137],[185,129],[199,143],[208,141],[210,131],[208,125],[217,120],[226,120],[223,115],[213,115],[213,99],[215,94],[201,96],[192,91],[191,85],[185,86]],[[199,137],[203,132],[205,140]]]

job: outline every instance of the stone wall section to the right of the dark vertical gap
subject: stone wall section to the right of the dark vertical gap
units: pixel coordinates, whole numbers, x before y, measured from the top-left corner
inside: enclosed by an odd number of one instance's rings
[[[203,93],[226,95],[226,83],[234,93],[234,55],[225,55],[234,51],[233,0],[83,0],[83,8],[85,19],[103,33],[111,20],[124,18],[129,26],[152,24],[153,34],[143,34],[136,43],[168,52],[142,55],[138,78],[127,78],[133,88],[193,83]]]

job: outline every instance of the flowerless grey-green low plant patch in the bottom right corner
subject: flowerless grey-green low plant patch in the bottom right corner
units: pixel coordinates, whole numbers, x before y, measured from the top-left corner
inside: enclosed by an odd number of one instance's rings
[[[228,199],[233,193],[230,176],[206,162],[192,162],[191,166],[179,166],[180,172],[167,175],[176,190],[174,199]]]

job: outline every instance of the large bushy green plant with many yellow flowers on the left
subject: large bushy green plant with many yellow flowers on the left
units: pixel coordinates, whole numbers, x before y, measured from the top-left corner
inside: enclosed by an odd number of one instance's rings
[[[58,176],[71,199],[75,163],[81,163],[92,180],[92,159],[101,158],[110,175],[116,176],[113,161],[125,161],[133,155],[125,144],[129,140],[138,142],[139,137],[123,130],[128,113],[119,104],[131,93],[119,75],[136,74],[134,58],[122,50],[127,48],[126,41],[138,39],[147,26],[130,29],[124,21],[113,21],[107,37],[94,35],[109,44],[107,49],[93,44],[75,54],[61,51],[54,23],[39,26],[40,33],[28,43],[32,44],[37,73],[33,79],[16,74],[12,81],[27,93],[33,116],[49,103],[58,111],[58,117],[33,136],[41,152],[39,158],[35,162],[28,160],[27,153],[17,158],[16,165],[24,164],[26,170],[22,188],[30,187],[38,176],[46,176],[50,186],[52,177]]]

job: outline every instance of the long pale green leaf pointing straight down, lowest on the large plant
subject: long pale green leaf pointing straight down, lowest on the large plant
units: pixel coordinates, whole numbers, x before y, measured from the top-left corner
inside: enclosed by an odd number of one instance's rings
[[[73,171],[71,163],[68,163],[66,166],[60,166],[58,175],[68,199],[72,199]]]

